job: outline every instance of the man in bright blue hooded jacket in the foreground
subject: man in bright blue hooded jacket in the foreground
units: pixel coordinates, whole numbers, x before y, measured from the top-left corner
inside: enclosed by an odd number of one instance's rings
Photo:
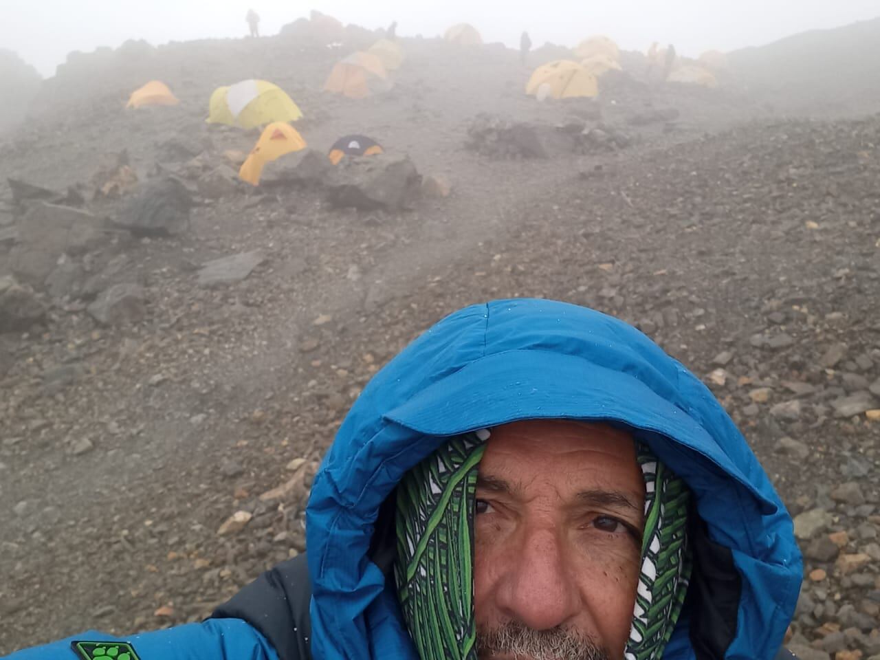
[[[758,460],[683,366],[576,305],[473,305],[404,349],[306,530],[306,557],[201,624],[11,657],[790,657],[802,564]]]

